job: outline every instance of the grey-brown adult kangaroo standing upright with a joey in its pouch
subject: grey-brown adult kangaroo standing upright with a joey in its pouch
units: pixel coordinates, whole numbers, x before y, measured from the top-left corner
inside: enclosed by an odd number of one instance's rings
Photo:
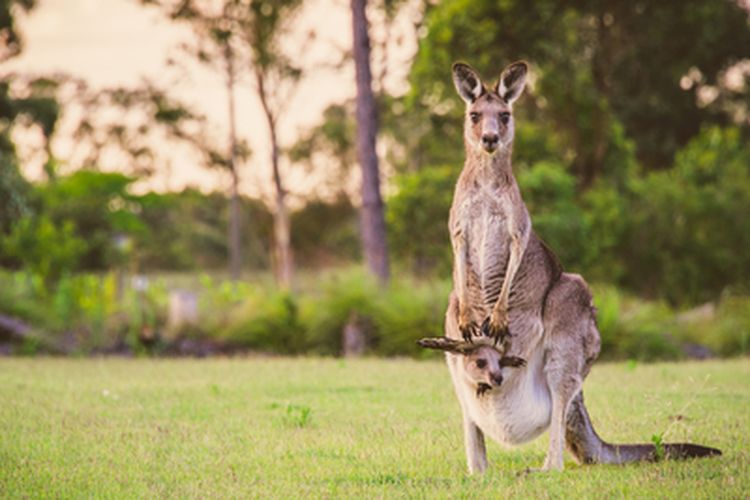
[[[454,291],[446,336],[420,344],[447,353],[469,471],[487,468],[485,435],[513,445],[547,429],[542,470],[563,468],[564,444],[581,463],[721,454],[693,444],[614,445],[594,431],[581,392],[600,347],[591,294],[534,234],[511,169],[512,105],[526,73],[526,63],[513,63],[488,87],[466,64],[453,65],[466,102],[466,163],[449,221]]]

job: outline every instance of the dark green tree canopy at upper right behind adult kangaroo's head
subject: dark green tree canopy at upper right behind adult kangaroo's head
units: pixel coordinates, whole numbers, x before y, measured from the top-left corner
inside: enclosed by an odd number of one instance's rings
[[[536,82],[519,103],[519,121],[551,129],[558,157],[584,186],[605,174],[614,123],[648,168],[669,165],[701,123],[724,123],[699,90],[719,85],[723,70],[750,56],[747,12],[737,2],[450,0],[428,11],[425,27],[404,116],[430,114],[419,144],[426,163],[461,152],[450,65],[466,60],[491,80],[501,65],[528,59]],[[676,42],[685,37],[690,47]],[[695,81],[685,90],[688,73]]]

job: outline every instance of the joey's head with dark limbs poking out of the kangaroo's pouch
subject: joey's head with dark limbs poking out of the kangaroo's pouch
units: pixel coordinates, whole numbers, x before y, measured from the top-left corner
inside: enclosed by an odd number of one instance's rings
[[[496,346],[494,340],[488,337],[479,337],[472,342],[434,337],[419,340],[417,343],[428,349],[457,354],[464,376],[476,387],[477,395],[503,383],[504,367],[519,367],[526,364],[521,358],[505,356],[500,346]]]

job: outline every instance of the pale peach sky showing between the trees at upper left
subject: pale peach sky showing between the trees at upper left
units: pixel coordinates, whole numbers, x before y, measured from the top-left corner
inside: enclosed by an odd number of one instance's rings
[[[169,57],[180,57],[177,45],[192,35],[187,27],[163,19],[156,9],[142,7],[139,0],[40,0],[29,15],[20,16],[19,27],[24,50],[3,65],[3,73],[65,72],[87,80],[94,87],[136,85],[145,77],[205,113],[217,137],[224,139],[227,105],[221,75],[197,65],[189,65],[182,71],[165,66]],[[282,144],[292,143],[301,130],[317,123],[327,105],[355,94],[351,64],[337,71],[321,69],[322,63],[340,57],[338,48],[351,45],[348,1],[307,0],[298,28],[300,32],[314,28],[319,34],[301,54],[318,69],[299,87],[289,106],[290,113],[280,123]],[[377,36],[377,26],[373,32]],[[407,48],[405,52],[413,50]],[[399,53],[403,55],[404,50]],[[388,83],[394,88],[404,85],[407,59],[391,59],[397,61],[394,68],[389,68]],[[271,189],[267,129],[259,102],[247,82],[241,82],[237,89],[237,109],[239,136],[254,151],[251,160],[242,167],[242,191],[267,197]],[[64,152],[65,139],[53,147]],[[60,154],[57,150],[56,153]],[[225,189],[228,182],[225,176],[200,168],[189,157],[174,158],[170,170],[157,172],[145,187],[179,190],[194,186],[214,190]],[[303,169],[285,165],[285,172],[292,191],[314,191]],[[31,162],[25,173],[31,179],[38,179],[41,165]]]

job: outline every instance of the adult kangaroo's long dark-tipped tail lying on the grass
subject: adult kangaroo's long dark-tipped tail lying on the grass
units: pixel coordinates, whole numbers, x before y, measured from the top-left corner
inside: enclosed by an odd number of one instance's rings
[[[602,440],[591,425],[583,404],[583,393],[571,401],[568,410],[565,441],[580,463],[625,464],[656,462],[662,459],[685,459],[721,455],[721,451],[690,443],[610,444]]]

